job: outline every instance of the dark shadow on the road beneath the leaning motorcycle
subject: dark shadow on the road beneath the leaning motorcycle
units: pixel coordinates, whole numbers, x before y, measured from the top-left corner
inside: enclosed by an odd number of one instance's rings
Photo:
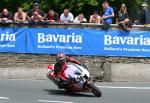
[[[83,93],[83,92],[79,92],[79,93],[69,93],[65,90],[56,90],[56,89],[44,89],[44,91],[48,92],[50,95],[67,95],[67,96],[71,96],[71,97],[95,97],[92,93]]]

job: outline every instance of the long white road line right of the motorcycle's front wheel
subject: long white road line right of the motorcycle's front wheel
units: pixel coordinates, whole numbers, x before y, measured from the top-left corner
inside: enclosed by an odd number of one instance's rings
[[[139,90],[150,90],[150,87],[119,87],[119,86],[97,86],[99,88],[110,88],[110,89],[139,89]]]

